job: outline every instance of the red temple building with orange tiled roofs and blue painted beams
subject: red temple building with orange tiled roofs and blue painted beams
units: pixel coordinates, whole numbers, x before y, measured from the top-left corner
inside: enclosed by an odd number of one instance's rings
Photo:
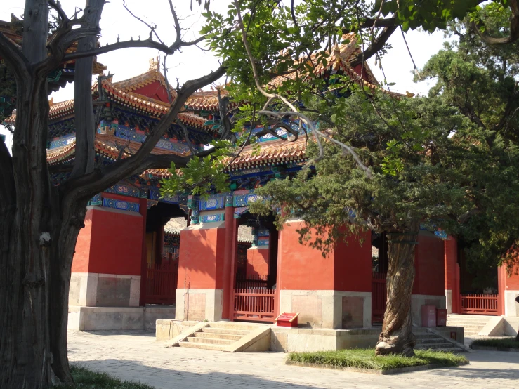
[[[378,86],[366,63],[350,67],[355,53],[355,42],[336,46],[327,65],[316,67],[315,77],[341,73]],[[65,65],[62,70],[67,74]],[[96,164],[102,166],[138,150],[176,94],[156,60],[137,77],[99,82],[92,97],[103,103],[95,142]],[[74,101],[51,100],[50,105],[48,164],[72,164]],[[189,156],[193,147],[203,150],[218,136],[221,119],[218,92],[198,91],[178,114],[188,136],[178,123],[171,124],[153,153]],[[157,319],[272,323],[282,312],[298,312],[299,326],[313,329],[380,324],[386,310],[385,235],[366,232],[364,244],[350,237],[324,258],[298,242],[302,220],[290,220],[278,231],[274,214],[249,213],[249,204],[259,200],[257,187],[294,175],[307,161],[303,131],[288,142],[287,131],[272,130],[282,139],[262,136],[259,153],[249,145],[230,163],[228,192],[161,197],[161,181],[170,173],[151,169],[93,197],[72,263],[70,328],[155,328]],[[55,174],[54,184],[67,174]],[[456,239],[421,230],[418,243],[414,324],[422,322],[423,305],[519,316],[512,303],[519,295],[519,276],[496,269],[496,293],[479,296],[471,293],[470,282],[460,281],[466,271]]]

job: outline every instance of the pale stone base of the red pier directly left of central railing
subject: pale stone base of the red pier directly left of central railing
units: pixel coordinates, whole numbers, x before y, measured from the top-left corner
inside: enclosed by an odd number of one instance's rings
[[[222,319],[222,289],[176,289],[177,320],[209,320],[218,322]]]

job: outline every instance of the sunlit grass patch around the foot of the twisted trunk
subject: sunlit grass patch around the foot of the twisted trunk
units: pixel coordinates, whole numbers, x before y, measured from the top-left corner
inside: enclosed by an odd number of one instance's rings
[[[355,367],[357,369],[390,370],[402,367],[440,364],[442,366],[456,366],[467,362],[463,355],[452,352],[414,350],[415,357],[402,355],[386,355],[376,357],[373,348],[355,348],[351,350],[319,351],[319,352],[291,352],[288,360],[313,364],[326,364],[330,367]]]

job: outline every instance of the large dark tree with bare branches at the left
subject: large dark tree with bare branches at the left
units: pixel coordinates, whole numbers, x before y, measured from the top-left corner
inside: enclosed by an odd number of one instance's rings
[[[95,121],[91,100],[93,56],[121,48],[155,48],[168,55],[195,41],[183,41],[173,7],[176,39],[167,45],[155,28],[145,40],[96,47],[105,0],[86,0],[84,10],[67,16],[54,0],[25,2],[22,45],[0,34],[0,57],[16,81],[12,157],[0,142],[0,387],[51,388],[72,383],[67,359],[67,301],[72,256],[84,225],[88,199],[122,178],[152,167],[184,166],[188,157],[155,156],[157,141],[176,119],[185,100],[225,73],[218,70],[185,82],[176,99],[133,155],[110,166],[94,166]],[[48,37],[49,7],[58,28]],[[154,40],[156,37],[159,41]],[[77,43],[77,50],[67,49]],[[70,178],[51,183],[46,164],[47,75],[64,61],[76,61],[74,88],[76,158]]]

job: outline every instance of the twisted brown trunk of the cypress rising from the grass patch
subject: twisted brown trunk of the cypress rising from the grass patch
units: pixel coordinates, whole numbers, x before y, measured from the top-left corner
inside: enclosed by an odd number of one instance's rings
[[[388,303],[376,355],[414,355],[411,296],[414,282],[414,247],[418,228],[388,234]]]

